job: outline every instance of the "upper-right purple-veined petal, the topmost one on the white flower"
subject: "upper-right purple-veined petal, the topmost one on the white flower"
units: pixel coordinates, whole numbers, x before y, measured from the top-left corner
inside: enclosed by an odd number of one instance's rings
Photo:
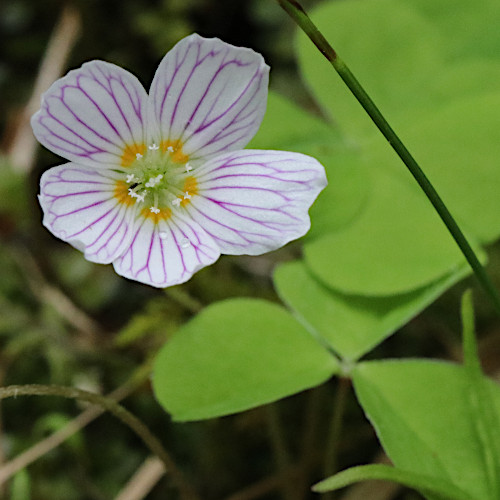
[[[260,54],[191,35],[162,60],[151,85],[151,112],[162,141],[190,160],[244,147],[266,109],[269,67]]]

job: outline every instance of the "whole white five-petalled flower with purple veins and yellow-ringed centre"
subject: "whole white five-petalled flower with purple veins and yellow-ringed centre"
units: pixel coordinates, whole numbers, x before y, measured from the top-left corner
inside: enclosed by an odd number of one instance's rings
[[[256,52],[198,35],[164,57],[149,96],[114,64],[70,71],[31,121],[69,160],[40,181],[44,225],[88,260],[156,287],[220,254],[257,255],[304,235],[323,167],[242,150],[262,121],[268,73]]]

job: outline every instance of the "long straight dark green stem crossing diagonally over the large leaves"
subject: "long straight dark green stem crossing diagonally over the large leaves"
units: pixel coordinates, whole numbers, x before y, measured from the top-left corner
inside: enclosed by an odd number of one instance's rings
[[[335,68],[340,78],[342,78],[354,97],[358,100],[361,106],[363,106],[363,109],[367,112],[367,114],[370,116],[383,136],[389,141],[391,147],[401,158],[403,163],[407,166],[414,179],[422,188],[422,191],[425,193],[429,201],[436,209],[436,212],[441,217],[441,220],[448,228],[448,231],[453,236],[453,239],[456,241],[460,250],[467,259],[467,262],[470,264],[484,291],[491,298],[495,308],[500,313],[500,296],[498,295],[495,286],[491,282],[489,276],[486,274],[484,267],[479,262],[476,253],[470,246],[461,229],[458,227],[458,224],[455,222],[455,219],[451,215],[450,211],[446,208],[443,200],[434,189],[434,186],[431,184],[427,176],[419,167],[418,163],[408,151],[406,146],[401,142],[401,139],[397,136],[396,132],[394,132],[392,127],[389,125],[370,96],[358,82],[356,77],[351,73],[350,69],[347,67],[344,61],[340,59],[333,47],[327,42],[326,38],[309,19],[300,3],[297,0],[277,1],[281,5],[281,7],[283,7],[283,9],[290,15],[290,17],[297,23],[297,25],[304,31],[304,33],[311,39],[314,45],[316,45],[316,47],[326,57],[330,64]]]

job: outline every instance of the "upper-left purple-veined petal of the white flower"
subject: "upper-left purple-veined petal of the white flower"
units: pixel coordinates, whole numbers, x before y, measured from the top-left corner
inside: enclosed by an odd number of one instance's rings
[[[36,138],[63,158],[91,167],[120,165],[146,141],[147,99],[134,75],[92,61],[49,88],[31,125]]]

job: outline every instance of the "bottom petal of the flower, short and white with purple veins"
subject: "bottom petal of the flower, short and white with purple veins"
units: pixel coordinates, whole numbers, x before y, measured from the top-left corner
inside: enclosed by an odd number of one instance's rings
[[[139,220],[129,248],[113,263],[126,278],[158,288],[177,285],[219,258],[217,245],[193,221],[182,216]]]

